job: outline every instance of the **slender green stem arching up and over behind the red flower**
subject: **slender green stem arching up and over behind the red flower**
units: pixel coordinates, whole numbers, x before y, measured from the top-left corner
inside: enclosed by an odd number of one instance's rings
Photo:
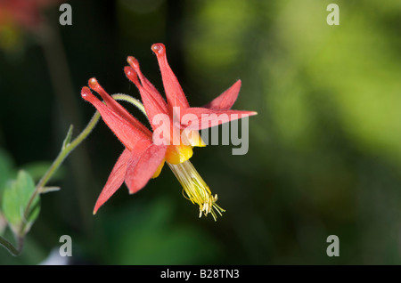
[[[143,104],[140,101],[135,100],[135,98],[133,98],[127,94],[122,94],[122,93],[113,94],[113,95],[111,95],[111,97],[114,98],[116,101],[127,101],[127,102],[133,104],[136,108],[140,109],[143,112],[143,114],[146,116],[146,111],[143,107]],[[94,126],[97,124],[100,117],[101,116],[100,116],[99,112],[96,111],[94,113],[94,116],[91,118],[89,123],[86,125],[86,128],[81,133],[79,133],[77,138],[75,138],[75,140],[72,142],[67,142],[67,144],[63,144],[61,151],[60,151],[59,155],[57,156],[57,158],[54,159],[53,164],[49,167],[49,169],[47,170],[45,175],[42,177],[42,179],[40,179],[40,181],[37,182],[37,186],[35,187],[35,190],[32,192],[32,195],[30,196],[28,204],[25,208],[24,219],[29,218],[29,213],[31,210],[31,206],[34,202],[34,199],[37,198],[37,195],[40,194],[40,192],[43,190],[43,188],[45,188],[46,183],[49,182],[49,180],[52,178],[53,174],[61,166],[64,159],[68,157],[70,152],[72,150],[75,150],[75,148],[77,148],[78,145],[86,139],[86,137],[89,135],[89,133],[92,132],[92,130],[94,129]],[[69,134],[70,134],[70,131],[67,135],[69,135]],[[26,233],[25,229],[26,229],[26,225],[24,222],[24,224],[21,225],[21,227],[20,227],[20,231],[19,231],[18,235],[15,235],[17,238],[18,247],[14,247],[12,245],[12,243],[10,243],[7,239],[4,239],[2,236],[0,236],[0,245],[5,247],[12,255],[19,255],[22,250],[22,247],[23,247],[23,242],[24,242],[25,233]]]

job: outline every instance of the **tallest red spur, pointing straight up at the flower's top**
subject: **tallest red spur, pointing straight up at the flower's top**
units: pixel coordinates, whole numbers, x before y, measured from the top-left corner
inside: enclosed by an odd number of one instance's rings
[[[160,66],[161,78],[168,100],[168,107],[172,110],[174,107],[185,109],[189,107],[183,89],[176,79],[173,70],[168,65],[166,57],[166,47],[164,44],[153,44],[151,50],[156,54]]]

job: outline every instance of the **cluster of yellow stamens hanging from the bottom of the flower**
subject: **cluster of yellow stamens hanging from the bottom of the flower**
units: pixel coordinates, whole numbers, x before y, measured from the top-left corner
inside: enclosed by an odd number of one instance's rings
[[[170,164],[167,162],[167,164],[183,186],[184,198],[191,200],[192,204],[196,203],[199,205],[199,217],[202,214],[205,216],[212,214],[213,219],[216,221],[216,212],[220,216],[222,212],[225,212],[223,208],[217,206],[217,195],[212,196],[209,186],[203,181],[195,167],[192,166],[191,161],[186,160],[180,164]]]

